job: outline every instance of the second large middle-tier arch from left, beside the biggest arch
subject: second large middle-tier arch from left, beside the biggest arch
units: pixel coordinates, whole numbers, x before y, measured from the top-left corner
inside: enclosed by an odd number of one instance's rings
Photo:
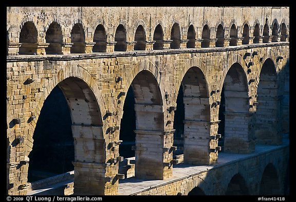
[[[172,138],[173,134],[164,132],[164,109],[158,81],[151,71],[142,70],[133,79],[128,94],[130,96],[126,96],[123,108],[130,106],[135,111],[135,123],[124,115],[127,112],[123,112],[122,118],[128,118],[129,124],[120,128],[120,138],[135,141],[135,176],[144,179],[166,178],[168,176],[165,176],[164,169],[168,169],[168,166],[163,162],[168,159],[163,154],[163,148],[167,144],[165,139]],[[134,106],[127,103],[128,99],[134,99]],[[134,134],[126,133],[134,127]],[[121,153],[124,152],[122,149],[121,146]]]

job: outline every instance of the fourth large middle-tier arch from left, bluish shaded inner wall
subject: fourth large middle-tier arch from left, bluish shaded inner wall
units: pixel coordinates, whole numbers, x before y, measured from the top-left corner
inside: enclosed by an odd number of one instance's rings
[[[219,133],[224,140],[224,152],[249,153],[254,145],[249,143],[249,96],[245,71],[241,64],[234,63],[229,68],[221,91],[221,122]],[[223,103],[225,101],[225,103]],[[224,106],[225,105],[225,106]],[[225,112],[223,109],[225,107]],[[224,124],[224,125],[222,125]]]

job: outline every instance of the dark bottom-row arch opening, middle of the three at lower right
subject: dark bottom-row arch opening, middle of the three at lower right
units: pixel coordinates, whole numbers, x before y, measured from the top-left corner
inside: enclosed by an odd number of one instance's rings
[[[228,183],[225,195],[249,195],[246,181],[241,174],[235,174]]]

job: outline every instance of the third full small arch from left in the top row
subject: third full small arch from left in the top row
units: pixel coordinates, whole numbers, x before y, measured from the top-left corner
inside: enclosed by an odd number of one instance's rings
[[[81,23],[76,23],[70,35],[71,43],[73,43],[70,52],[71,53],[84,53],[85,52],[85,39],[84,30]]]

